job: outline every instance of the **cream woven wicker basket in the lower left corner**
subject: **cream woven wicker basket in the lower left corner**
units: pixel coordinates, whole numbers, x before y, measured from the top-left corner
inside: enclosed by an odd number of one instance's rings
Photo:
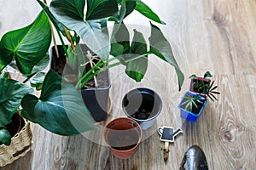
[[[25,126],[19,133],[15,134],[9,145],[0,145],[0,167],[12,163],[21,156],[31,150],[32,147],[32,131],[30,123],[25,121]]]

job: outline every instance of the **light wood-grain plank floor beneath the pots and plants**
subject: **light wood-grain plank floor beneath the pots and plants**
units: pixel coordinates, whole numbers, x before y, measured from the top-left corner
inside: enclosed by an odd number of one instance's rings
[[[256,169],[256,1],[255,0],[145,0],[166,26],[160,26],[186,80],[181,92],[172,66],[150,56],[148,73],[141,83],[125,77],[123,68],[111,70],[113,111],[108,121],[125,116],[120,108],[124,94],[148,87],[160,94],[163,110],[154,127],[144,132],[136,154],[120,160],[110,153],[102,131],[61,137],[32,124],[32,151],[4,170],[26,169],[178,169],[189,146],[205,151],[210,169]],[[34,0],[0,1],[0,36],[30,23],[40,10]],[[128,19],[148,28],[139,14]],[[190,74],[211,71],[221,95],[207,104],[196,123],[183,122],[177,103],[189,87]],[[120,72],[120,73],[119,73]],[[125,83],[124,83],[125,82]],[[164,144],[156,128],[180,127],[183,135],[170,146],[163,161]],[[102,129],[102,127],[101,127]],[[93,141],[91,141],[93,140]]]

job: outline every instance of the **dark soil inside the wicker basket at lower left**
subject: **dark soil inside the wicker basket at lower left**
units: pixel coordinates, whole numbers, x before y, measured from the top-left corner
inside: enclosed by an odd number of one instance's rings
[[[21,118],[21,116],[16,113],[14,116],[12,116],[12,122],[9,122],[8,125],[6,125],[7,130],[9,131],[11,137],[14,137],[16,133],[19,133],[22,127],[25,126],[24,120]],[[0,145],[2,143],[0,142]]]

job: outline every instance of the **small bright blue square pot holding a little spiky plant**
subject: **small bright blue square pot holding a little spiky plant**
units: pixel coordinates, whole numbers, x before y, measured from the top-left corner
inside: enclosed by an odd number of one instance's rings
[[[204,110],[206,104],[207,104],[207,99],[203,96],[199,96],[199,99],[203,102],[202,105],[198,105],[198,113],[193,113],[193,112],[190,112],[190,111],[187,111],[184,109],[184,106],[182,106],[182,103],[185,99],[185,96],[186,95],[190,95],[190,96],[195,96],[196,94],[194,93],[191,93],[191,92],[186,92],[184,95],[183,95],[183,98],[181,99],[181,101],[179,102],[179,104],[177,105],[178,109],[180,109],[180,116],[184,119],[187,119],[189,122],[196,122],[197,118],[199,116],[201,116],[201,112]],[[200,108],[201,107],[201,108]]]

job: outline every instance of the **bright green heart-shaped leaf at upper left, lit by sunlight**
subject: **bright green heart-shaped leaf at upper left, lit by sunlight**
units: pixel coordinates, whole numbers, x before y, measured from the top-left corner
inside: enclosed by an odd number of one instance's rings
[[[30,75],[34,65],[44,58],[51,42],[47,15],[42,11],[29,26],[3,35],[0,42],[0,66],[15,59],[22,74]]]

